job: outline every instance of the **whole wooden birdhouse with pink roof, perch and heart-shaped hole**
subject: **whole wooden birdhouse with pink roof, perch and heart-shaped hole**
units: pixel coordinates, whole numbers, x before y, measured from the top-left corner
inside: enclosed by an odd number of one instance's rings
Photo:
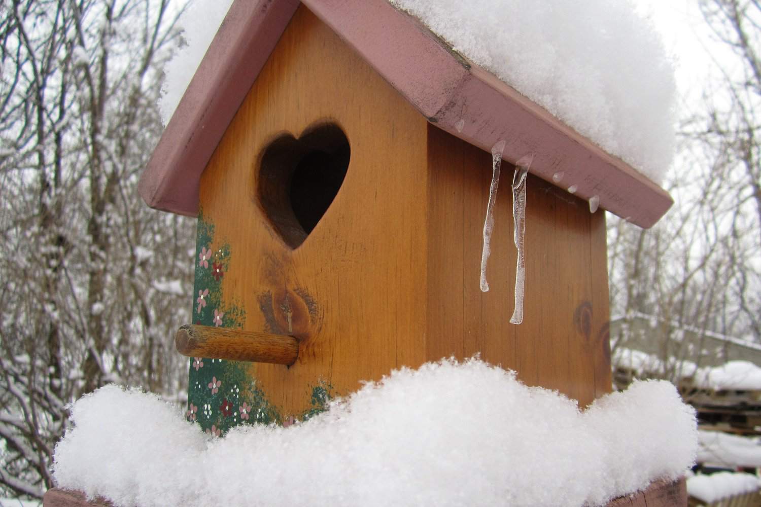
[[[528,167],[524,220],[509,182],[489,199],[500,159]],[[188,417],[214,434],[476,354],[586,406],[611,388],[591,208],[650,227],[671,204],[387,0],[234,2],[141,192],[198,217],[177,347]]]

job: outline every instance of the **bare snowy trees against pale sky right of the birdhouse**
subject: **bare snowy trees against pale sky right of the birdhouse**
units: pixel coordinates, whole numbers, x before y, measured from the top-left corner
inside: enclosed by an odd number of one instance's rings
[[[720,78],[705,84],[705,109],[683,117],[666,183],[677,204],[652,230],[609,226],[611,303],[625,323],[613,347],[626,347],[627,315],[640,312],[660,323],[662,359],[698,364],[706,351],[674,339],[680,327],[761,341],[761,2],[700,7],[734,59],[715,57]]]

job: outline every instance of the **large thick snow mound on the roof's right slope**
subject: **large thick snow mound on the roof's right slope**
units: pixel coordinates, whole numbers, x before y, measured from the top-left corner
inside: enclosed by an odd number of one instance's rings
[[[663,178],[675,142],[673,65],[632,2],[389,2],[610,154]]]

